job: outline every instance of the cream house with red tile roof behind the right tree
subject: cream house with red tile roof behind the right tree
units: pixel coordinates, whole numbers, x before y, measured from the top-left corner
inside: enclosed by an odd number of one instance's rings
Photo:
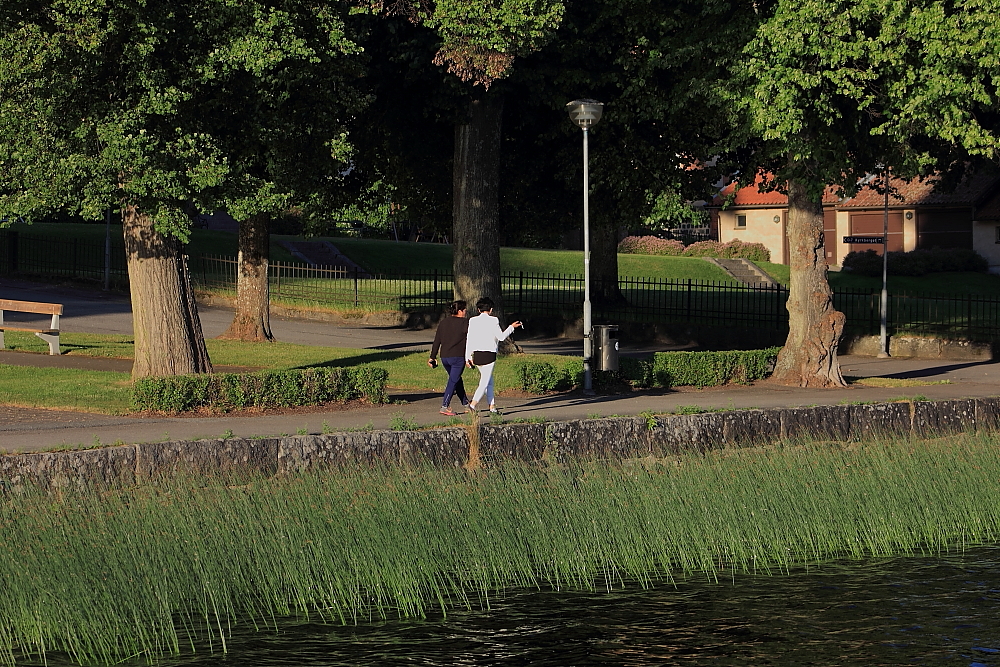
[[[780,192],[760,192],[762,177],[737,189],[731,183],[708,205],[712,233],[719,241],[739,239],[763,243],[771,261],[788,263],[788,198]],[[891,179],[888,247],[971,248],[1000,273],[1000,174],[980,173],[952,192],[934,188],[935,179]],[[845,236],[882,236],[885,198],[865,185],[853,197],[841,198],[835,188],[823,193],[823,233],[826,260],[839,266],[847,253],[882,245],[844,243]]]

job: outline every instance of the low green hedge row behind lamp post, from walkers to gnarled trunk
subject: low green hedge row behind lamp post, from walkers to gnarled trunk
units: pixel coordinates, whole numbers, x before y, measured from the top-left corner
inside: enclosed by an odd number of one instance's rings
[[[771,374],[781,348],[723,352],[657,352],[651,359],[622,358],[617,371],[597,371],[594,386],[650,389],[680,386],[715,387],[748,384]],[[583,383],[583,362],[573,359],[557,368],[548,362],[518,367],[521,388],[533,394],[565,391]]]

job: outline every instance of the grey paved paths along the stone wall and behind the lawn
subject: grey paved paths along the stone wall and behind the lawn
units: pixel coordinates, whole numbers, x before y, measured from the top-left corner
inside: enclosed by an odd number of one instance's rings
[[[57,301],[66,305],[63,319],[67,331],[94,333],[131,333],[128,301],[121,295],[88,292],[76,288],[39,285],[4,280],[0,282],[3,298],[33,301]],[[229,325],[231,311],[210,308],[202,311],[207,336],[221,333]],[[430,331],[409,331],[378,327],[336,327],[327,323],[274,320],[275,335],[290,342],[371,349],[427,349],[433,337]],[[530,351],[578,353],[580,341],[543,339],[527,341]],[[633,353],[651,348],[635,348]],[[29,359],[30,358],[30,359]],[[88,364],[109,363],[83,357],[48,357],[14,352],[0,353],[0,363],[24,359],[35,364],[60,364],[95,367]],[[634,415],[642,411],[670,412],[681,406],[701,408],[781,407],[795,405],[834,405],[842,402],[881,401],[899,396],[923,395],[930,399],[1000,395],[1000,363],[949,362],[916,359],[880,360],[868,357],[841,359],[844,374],[859,377],[913,378],[925,381],[947,380],[950,384],[880,389],[855,385],[846,389],[816,390],[783,387],[761,382],[751,387],[681,388],[659,393],[621,396],[583,396],[579,393],[553,396],[510,394],[498,403],[507,419],[545,417],[548,419],[583,418],[591,415]],[[127,360],[118,360],[128,370]],[[504,363],[501,361],[500,363]],[[473,377],[474,377],[473,373]],[[442,375],[442,384],[443,384]],[[436,392],[395,392],[398,403],[389,406],[348,406],[334,409],[303,409],[281,414],[224,417],[138,418],[109,417],[63,410],[37,410],[0,407],[0,449],[38,451],[61,446],[90,446],[98,442],[149,442],[234,436],[269,436],[298,432],[321,433],[348,428],[388,428],[393,421],[432,424],[442,421],[437,411],[440,397]]]

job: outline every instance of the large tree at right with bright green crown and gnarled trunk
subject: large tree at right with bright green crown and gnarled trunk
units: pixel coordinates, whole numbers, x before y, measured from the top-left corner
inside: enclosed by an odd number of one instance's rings
[[[788,194],[789,333],[775,378],[843,386],[823,249],[822,195],[892,167],[902,176],[990,156],[997,3],[777,0],[762,4],[745,66],[730,82],[746,111],[747,165]],[[992,109],[990,106],[992,105]],[[992,122],[995,122],[993,120]],[[747,176],[749,180],[750,177]]]

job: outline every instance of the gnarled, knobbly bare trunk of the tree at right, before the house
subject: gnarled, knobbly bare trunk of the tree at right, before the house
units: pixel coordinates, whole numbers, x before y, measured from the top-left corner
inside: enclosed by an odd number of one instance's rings
[[[774,379],[800,387],[844,387],[837,345],[844,314],[833,307],[823,247],[823,203],[806,184],[788,183],[788,339],[778,354]]]

